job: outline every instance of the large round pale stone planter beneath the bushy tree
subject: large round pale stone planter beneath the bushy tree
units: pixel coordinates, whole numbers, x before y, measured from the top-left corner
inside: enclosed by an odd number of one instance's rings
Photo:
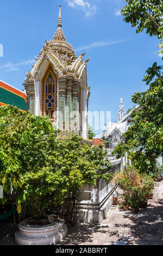
[[[15,233],[17,245],[54,245],[67,235],[67,225],[64,220],[47,225],[31,225],[27,218],[18,225]]]

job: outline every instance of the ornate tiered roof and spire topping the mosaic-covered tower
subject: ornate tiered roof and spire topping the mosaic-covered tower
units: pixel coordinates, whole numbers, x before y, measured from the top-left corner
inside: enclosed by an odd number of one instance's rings
[[[48,41],[45,39],[45,44],[43,44],[41,52],[37,54],[37,57],[35,57],[35,65],[32,64],[32,71],[27,72],[27,79],[25,79],[25,82],[35,79],[42,62],[45,59],[52,64],[58,77],[72,75],[74,79],[79,81],[82,78],[84,69],[86,68],[86,63],[89,61],[89,59],[87,59],[83,63],[84,54],[85,52],[77,58],[72,45],[66,41],[64,32],[62,31],[61,5],[59,5],[57,31],[55,32],[53,39]]]

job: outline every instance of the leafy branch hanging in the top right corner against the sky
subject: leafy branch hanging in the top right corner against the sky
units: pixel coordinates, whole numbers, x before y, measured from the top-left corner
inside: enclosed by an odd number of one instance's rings
[[[131,27],[136,27],[136,33],[146,29],[146,33],[163,38],[163,3],[162,0],[126,0],[127,4],[121,13],[124,21],[131,23]],[[160,54],[163,53],[163,41],[159,48]]]

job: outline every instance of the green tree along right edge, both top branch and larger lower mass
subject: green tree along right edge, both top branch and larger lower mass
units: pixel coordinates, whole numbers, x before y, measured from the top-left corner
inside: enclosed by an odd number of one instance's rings
[[[162,40],[162,1],[127,0],[127,5],[122,9],[124,21],[136,27],[136,33],[146,29],[149,35],[157,36]],[[162,43],[159,46],[162,47]],[[134,126],[130,126],[124,133],[126,143],[119,143],[112,154],[117,158],[128,153],[132,165],[141,172],[155,172],[156,159],[162,154],[162,124],[163,124],[163,76],[162,66],[155,62],[148,68],[143,81],[149,86],[146,92],[136,92],[131,100],[139,105],[134,108],[131,117]]]

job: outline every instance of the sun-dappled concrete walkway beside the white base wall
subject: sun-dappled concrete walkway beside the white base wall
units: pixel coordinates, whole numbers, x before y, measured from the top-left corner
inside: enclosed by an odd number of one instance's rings
[[[58,245],[163,245],[163,181],[154,189],[147,209],[139,214],[118,205],[99,224],[77,224]]]

